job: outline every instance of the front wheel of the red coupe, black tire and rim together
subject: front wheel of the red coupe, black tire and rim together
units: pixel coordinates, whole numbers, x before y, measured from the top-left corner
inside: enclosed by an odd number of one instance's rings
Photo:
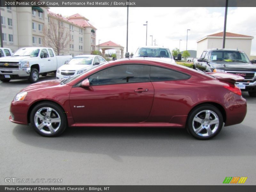
[[[52,102],[42,102],[32,109],[30,123],[39,135],[56,137],[66,129],[67,117],[59,105]]]

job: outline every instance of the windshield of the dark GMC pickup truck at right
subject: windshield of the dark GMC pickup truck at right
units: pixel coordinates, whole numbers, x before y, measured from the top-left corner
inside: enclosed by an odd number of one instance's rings
[[[243,51],[212,51],[210,60],[226,62],[241,61],[244,63],[250,63],[250,60]]]

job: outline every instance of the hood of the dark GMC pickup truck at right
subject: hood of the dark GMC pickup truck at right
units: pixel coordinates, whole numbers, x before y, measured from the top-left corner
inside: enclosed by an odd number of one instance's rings
[[[256,65],[251,63],[211,61],[210,64],[213,65],[214,68],[223,69],[226,71],[256,71]]]

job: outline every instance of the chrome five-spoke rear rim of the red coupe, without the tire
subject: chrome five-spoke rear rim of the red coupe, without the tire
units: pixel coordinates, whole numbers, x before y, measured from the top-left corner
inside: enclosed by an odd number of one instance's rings
[[[206,137],[217,131],[219,123],[220,120],[215,112],[202,110],[193,118],[192,127],[197,135]]]

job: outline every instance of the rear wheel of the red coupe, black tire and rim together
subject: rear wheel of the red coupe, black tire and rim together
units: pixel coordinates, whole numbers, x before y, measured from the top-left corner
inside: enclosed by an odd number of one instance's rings
[[[206,114],[209,114],[209,118]],[[222,126],[223,116],[220,110],[212,105],[199,106],[188,115],[187,130],[199,140],[212,139],[220,132]]]

